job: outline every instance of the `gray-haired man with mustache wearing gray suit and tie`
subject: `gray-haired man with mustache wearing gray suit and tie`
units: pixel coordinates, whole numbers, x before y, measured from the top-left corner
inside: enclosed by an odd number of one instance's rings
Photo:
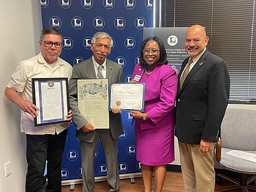
[[[124,82],[122,66],[107,59],[112,46],[113,40],[110,35],[105,32],[94,34],[91,40],[93,56],[74,65],[69,81],[70,108],[73,110],[73,122],[77,127],[76,137],[79,138],[81,147],[83,192],[91,192],[94,188],[94,155],[99,138],[108,167],[109,191],[119,191],[117,139],[123,133],[121,110],[114,108],[109,112],[110,129],[95,129],[94,125],[80,113],[77,105],[77,79],[108,78],[110,84]],[[99,70],[101,77],[97,75]]]

